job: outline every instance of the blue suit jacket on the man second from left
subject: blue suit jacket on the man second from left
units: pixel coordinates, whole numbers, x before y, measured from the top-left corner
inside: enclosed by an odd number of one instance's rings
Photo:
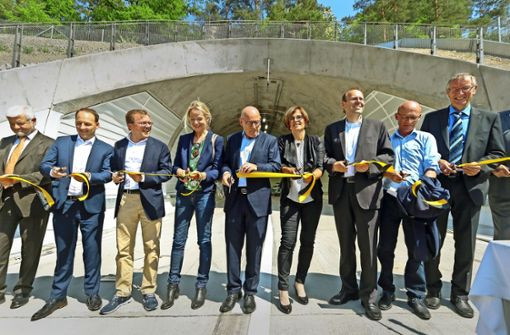
[[[52,167],[67,167],[68,172],[73,171],[74,146],[78,135],[62,136],[48,149],[39,170],[50,177]],[[112,180],[110,172],[110,158],[112,146],[96,137],[85,168],[90,172],[90,190],[88,198],[83,202],[85,210],[90,214],[98,214],[105,210],[104,184]],[[67,199],[71,178],[52,179],[51,190],[55,199],[54,210],[61,210]]]

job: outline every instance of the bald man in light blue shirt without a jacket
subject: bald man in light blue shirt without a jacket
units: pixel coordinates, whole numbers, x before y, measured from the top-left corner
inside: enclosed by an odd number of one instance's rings
[[[407,263],[404,282],[407,290],[408,305],[413,312],[424,320],[430,319],[430,312],[424,304],[425,271],[422,261],[415,260],[413,251],[415,243],[414,223],[404,217],[399,210],[397,189],[408,187],[420,177],[436,178],[439,171],[439,153],[434,136],[416,130],[416,124],[421,117],[421,106],[415,101],[406,101],[399,106],[395,119],[398,129],[390,136],[391,146],[395,151],[395,173],[386,176],[384,180],[384,196],[381,204],[381,218],[379,224],[379,244],[377,256],[381,263],[379,286],[383,294],[379,300],[379,308],[388,310],[395,300],[395,285],[393,284],[393,260],[397,244],[400,222],[404,221],[403,229],[407,246]],[[405,178],[404,178],[405,177]]]

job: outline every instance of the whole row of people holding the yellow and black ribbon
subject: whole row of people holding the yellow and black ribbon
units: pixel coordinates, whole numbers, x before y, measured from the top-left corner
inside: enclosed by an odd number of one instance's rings
[[[243,312],[252,313],[256,309],[262,246],[272,208],[270,179],[263,174],[258,178],[250,175],[271,172],[296,176],[282,179],[280,195],[277,307],[289,314],[292,312],[289,275],[299,226],[294,290],[297,302],[308,303],[305,282],[323,205],[320,179],[326,170],[328,199],[333,206],[340,244],[341,279],[341,290],[329,303],[341,305],[359,299],[369,319],[381,319],[381,310],[391,308],[395,300],[394,251],[403,222],[408,248],[404,274],[408,305],[420,318],[431,317],[429,309],[441,304],[440,257],[425,262],[414,257],[414,224],[399,209],[397,191],[421,178],[432,178],[450,193],[455,239],[450,300],[459,315],[471,318],[468,294],[475,238],[487,193],[495,238],[510,239],[509,165],[483,164],[484,160],[509,155],[510,115],[498,116],[472,107],[476,90],[474,76],[456,74],[446,87],[450,106],[427,114],[421,130],[417,130],[421,107],[417,102],[406,101],[395,114],[398,129],[389,136],[381,121],[363,117],[363,92],[351,88],[341,97],[345,118],[328,125],[323,139],[307,133],[311,120],[302,106],[287,110],[283,121],[290,133],[279,138],[262,132],[259,111],[247,106],[239,118],[242,130],[225,141],[211,131],[212,116],[206,104],[194,101],[185,114],[193,131],[179,138],[173,164],[168,146],[150,136],[152,120],[145,110],[127,112],[129,134],[111,147],[95,135],[99,115],[93,109],[82,108],[75,113],[77,135],[54,141],[36,130],[36,118],[29,106],[15,106],[7,111],[15,134],[0,142],[0,303],[5,302],[9,254],[18,226],[22,239],[21,266],[11,308],[25,305],[30,297],[49,207],[47,199],[32,186],[36,184],[49,191],[55,200],[51,210],[57,262],[49,299],[32,320],[47,317],[67,305],[78,229],[82,236],[88,309],[100,310],[105,315],[132,300],[134,247],[140,225],[144,250],[142,303],[145,310],[155,310],[165,216],[162,184],[175,176],[174,235],[168,286],[161,308],[171,308],[179,297],[184,249],[193,216],[200,256],[191,308],[200,308],[206,300],[215,182],[221,181],[225,193],[227,297],[220,312],[232,310],[243,299]],[[470,164],[460,169],[461,163]],[[393,169],[381,165],[392,165]],[[19,178],[9,178],[11,175]],[[103,306],[99,296],[101,239],[105,184],[110,181],[119,185],[115,203],[117,273],[115,294]],[[437,220],[440,246],[446,236],[448,212]],[[245,240],[243,282],[241,255]],[[361,260],[359,284],[356,240]],[[377,285],[382,288],[380,297]]]

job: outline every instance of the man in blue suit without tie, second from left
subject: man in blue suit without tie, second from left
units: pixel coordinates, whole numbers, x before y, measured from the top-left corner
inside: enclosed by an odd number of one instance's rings
[[[50,298],[32,316],[32,321],[47,317],[67,305],[67,288],[73,274],[74,252],[80,229],[85,265],[84,288],[87,307],[101,308],[99,280],[101,277],[101,238],[105,211],[104,184],[111,181],[110,158],[112,147],[95,137],[99,115],[90,108],[75,114],[78,135],[57,138],[44,156],[40,171],[52,178],[53,230],[57,245],[57,264]],[[81,173],[90,184],[87,190]],[[88,196],[85,200],[83,197]],[[83,201],[82,201],[83,200]]]

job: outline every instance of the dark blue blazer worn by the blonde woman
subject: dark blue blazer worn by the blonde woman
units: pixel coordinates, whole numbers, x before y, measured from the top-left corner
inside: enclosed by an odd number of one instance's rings
[[[176,174],[177,169],[179,168],[186,170],[189,167],[189,152],[191,150],[191,146],[193,145],[193,136],[194,133],[189,133],[179,137],[179,142],[177,143],[177,152],[175,154],[175,162],[174,166],[172,167],[173,174]],[[215,190],[214,181],[218,179],[221,169],[221,161],[223,158],[223,137],[217,136],[214,140],[213,157],[212,136],[213,132],[209,131],[205,137],[204,148],[202,149],[202,153],[200,154],[200,158],[198,160],[197,170],[200,172],[205,172],[207,175],[205,180],[200,183],[203,193]],[[184,187],[184,183],[180,180],[177,181],[175,189],[177,192],[185,193],[188,191]]]

